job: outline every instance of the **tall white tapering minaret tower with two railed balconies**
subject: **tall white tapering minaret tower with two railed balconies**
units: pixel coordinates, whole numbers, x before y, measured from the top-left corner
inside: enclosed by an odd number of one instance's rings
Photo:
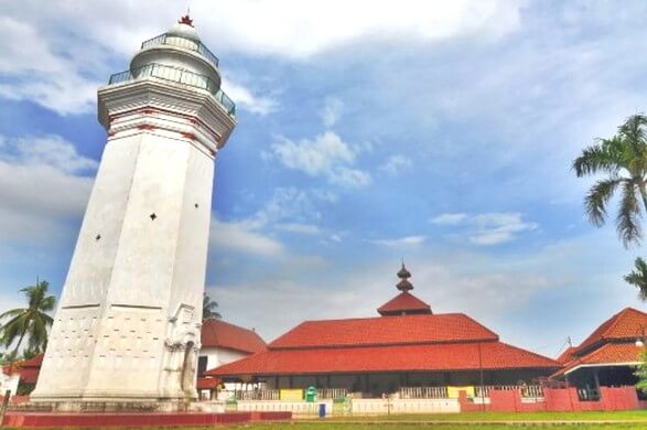
[[[108,141],[31,398],[169,407],[196,397],[214,159],[235,105],[188,15],[98,104]]]

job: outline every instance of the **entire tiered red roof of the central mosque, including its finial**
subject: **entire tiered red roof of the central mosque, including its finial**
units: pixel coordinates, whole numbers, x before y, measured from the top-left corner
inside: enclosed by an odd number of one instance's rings
[[[206,374],[216,377],[366,372],[558,369],[548,357],[499,341],[464,313],[432,314],[411,294],[411,273],[398,272],[400,293],[378,309],[381,316],[305,321],[268,344],[267,351]]]

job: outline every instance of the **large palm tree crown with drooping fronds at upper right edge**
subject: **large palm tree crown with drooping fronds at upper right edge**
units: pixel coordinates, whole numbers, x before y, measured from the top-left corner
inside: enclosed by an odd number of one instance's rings
[[[611,197],[619,190],[615,218],[625,248],[643,238],[641,212],[647,212],[647,117],[634,115],[618,127],[611,139],[599,139],[573,161],[579,178],[603,173],[584,200],[589,219],[600,227],[606,218]]]

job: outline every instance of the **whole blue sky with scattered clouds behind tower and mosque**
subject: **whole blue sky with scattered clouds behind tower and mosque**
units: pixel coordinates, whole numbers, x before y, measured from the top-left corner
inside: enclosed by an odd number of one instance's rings
[[[61,291],[105,144],[96,89],[186,2],[0,0],[0,311]],[[640,1],[192,1],[238,127],[207,289],[271,340],[374,315],[401,258],[435,312],[554,356],[624,307],[641,249],[570,162],[647,110]]]

